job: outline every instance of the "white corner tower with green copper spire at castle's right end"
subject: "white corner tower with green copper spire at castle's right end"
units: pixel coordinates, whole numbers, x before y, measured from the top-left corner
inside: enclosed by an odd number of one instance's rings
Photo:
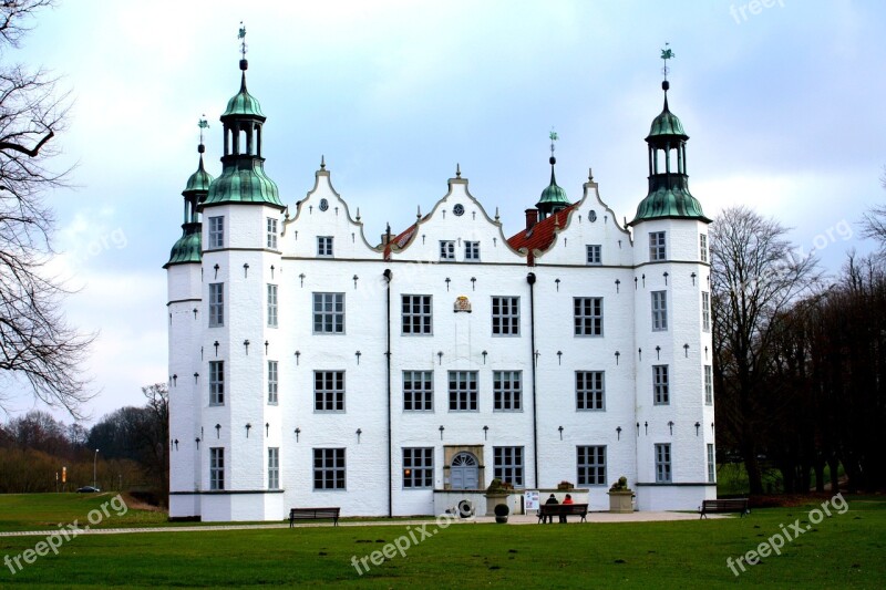
[[[630,221],[635,242],[638,506],[641,510],[712,498],[708,219],[689,192],[689,136],[668,105],[646,138],[649,190]],[[655,487],[653,487],[655,486]],[[652,494],[651,490],[656,493]]]

